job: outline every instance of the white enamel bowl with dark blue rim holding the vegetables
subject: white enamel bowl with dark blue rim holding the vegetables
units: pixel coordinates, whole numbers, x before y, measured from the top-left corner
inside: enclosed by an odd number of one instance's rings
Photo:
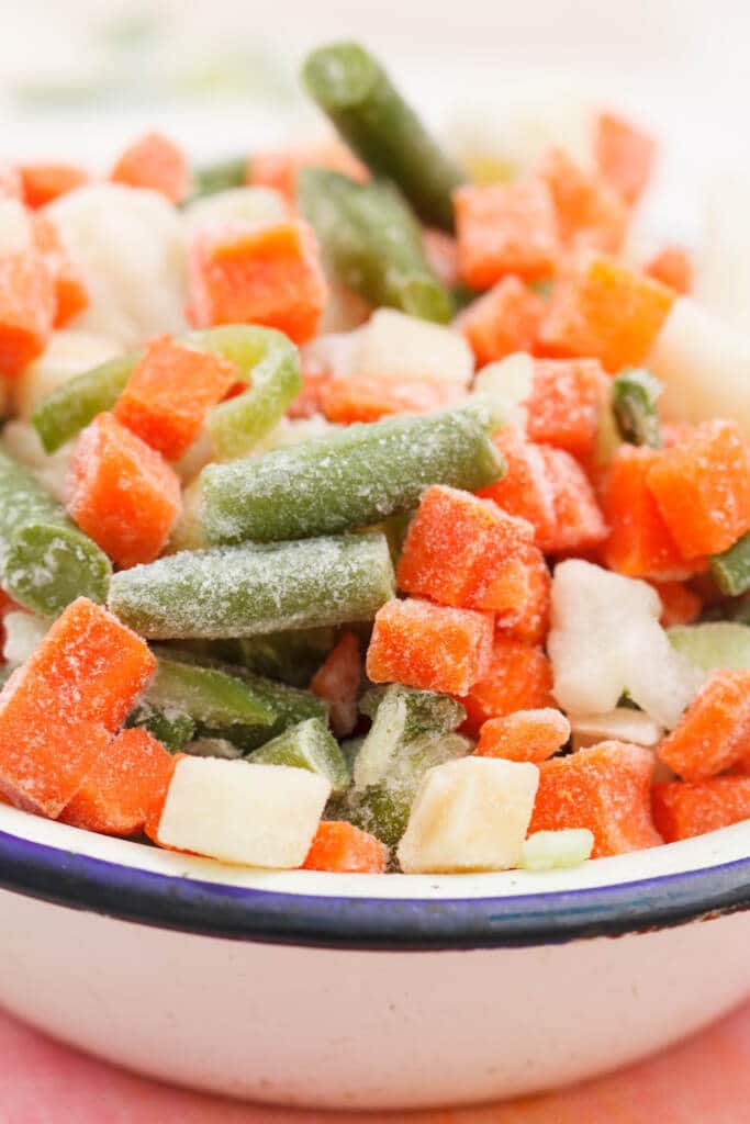
[[[591,1077],[750,991],[750,822],[568,871],[269,872],[0,806],[0,1004],[179,1085],[415,1108]]]

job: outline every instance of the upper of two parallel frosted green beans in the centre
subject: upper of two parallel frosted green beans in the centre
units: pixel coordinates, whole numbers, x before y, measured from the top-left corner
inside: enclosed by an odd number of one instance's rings
[[[335,534],[416,507],[428,484],[476,491],[503,468],[481,411],[351,425],[292,448],[208,465],[204,528],[213,543]]]

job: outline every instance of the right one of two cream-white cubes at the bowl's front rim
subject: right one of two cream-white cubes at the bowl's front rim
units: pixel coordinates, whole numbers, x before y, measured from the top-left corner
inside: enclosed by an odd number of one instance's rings
[[[499,758],[460,758],[428,769],[398,847],[406,873],[510,870],[518,863],[539,769]]]

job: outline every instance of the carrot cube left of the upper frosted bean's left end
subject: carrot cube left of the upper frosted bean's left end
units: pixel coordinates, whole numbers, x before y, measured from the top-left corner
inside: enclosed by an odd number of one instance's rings
[[[83,430],[71,460],[67,510],[114,562],[153,562],[180,505],[174,470],[112,414]]]

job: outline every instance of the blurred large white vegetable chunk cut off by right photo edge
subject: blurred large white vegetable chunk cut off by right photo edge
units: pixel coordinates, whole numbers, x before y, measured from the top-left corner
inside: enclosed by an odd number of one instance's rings
[[[668,422],[730,417],[750,439],[750,337],[689,297],[672,305],[647,365],[663,384]]]

